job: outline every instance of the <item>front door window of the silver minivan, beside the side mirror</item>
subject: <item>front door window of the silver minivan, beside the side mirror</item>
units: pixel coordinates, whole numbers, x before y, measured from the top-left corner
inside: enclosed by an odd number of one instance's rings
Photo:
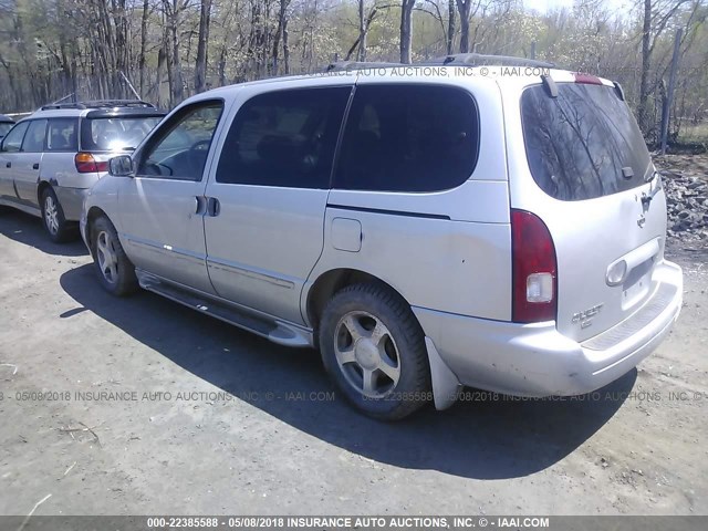
[[[196,103],[165,123],[143,152],[138,175],[201,180],[223,102]]]

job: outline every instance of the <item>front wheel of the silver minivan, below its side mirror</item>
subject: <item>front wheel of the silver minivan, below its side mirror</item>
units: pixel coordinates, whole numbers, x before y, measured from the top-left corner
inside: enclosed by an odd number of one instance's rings
[[[90,235],[93,263],[101,285],[116,296],[135,293],[139,288],[135,266],[125,254],[111,220],[101,216],[91,226]]]

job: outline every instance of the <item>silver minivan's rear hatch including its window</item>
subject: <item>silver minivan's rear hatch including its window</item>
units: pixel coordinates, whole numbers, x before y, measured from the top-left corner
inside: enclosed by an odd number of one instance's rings
[[[555,246],[558,330],[585,341],[631,316],[656,290],[666,202],[621,88],[590,76],[550,83],[521,95],[535,183],[522,204],[545,222]]]

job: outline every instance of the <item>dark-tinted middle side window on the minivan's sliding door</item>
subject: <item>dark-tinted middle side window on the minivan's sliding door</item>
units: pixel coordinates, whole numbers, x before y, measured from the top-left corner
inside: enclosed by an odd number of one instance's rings
[[[329,188],[351,86],[277,91],[239,108],[217,183]]]

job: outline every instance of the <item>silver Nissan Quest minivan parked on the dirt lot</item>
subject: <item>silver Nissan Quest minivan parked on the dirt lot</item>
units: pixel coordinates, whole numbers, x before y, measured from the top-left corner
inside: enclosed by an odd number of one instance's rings
[[[683,283],[622,87],[475,59],[186,101],[85,199],[103,287],[314,346],[377,418],[462,386],[542,397],[618,378],[666,336]]]

